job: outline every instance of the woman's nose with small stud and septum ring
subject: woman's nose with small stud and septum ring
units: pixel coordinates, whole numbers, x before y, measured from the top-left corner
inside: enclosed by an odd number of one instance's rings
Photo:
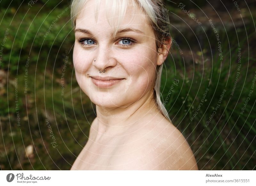
[[[116,66],[116,59],[113,57],[112,48],[107,47],[106,45],[99,46],[95,55],[95,58],[92,62],[92,65],[100,71],[109,70],[111,67]]]

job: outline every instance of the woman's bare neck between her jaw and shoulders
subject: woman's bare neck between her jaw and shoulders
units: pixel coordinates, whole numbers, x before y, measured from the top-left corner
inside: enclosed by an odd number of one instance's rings
[[[124,134],[134,125],[138,125],[140,120],[153,114],[159,114],[154,95],[149,91],[138,101],[128,106],[105,108],[96,105],[98,134],[113,135]],[[154,117],[154,115],[152,115]]]

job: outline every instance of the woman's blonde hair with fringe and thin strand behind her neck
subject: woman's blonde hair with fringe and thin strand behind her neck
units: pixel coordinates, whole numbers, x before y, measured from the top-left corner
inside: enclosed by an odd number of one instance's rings
[[[76,19],[80,15],[83,7],[88,0],[72,0],[71,2],[71,21],[72,27],[76,27]],[[95,6],[95,20],[98,19],[99,7],[101,0],[93,0],[96,4]],[[145,13],[148,23],[154,28],[154,33],[156,37],[156,48],[157,51],[161,45],[165,44],[165,41],[169,39],[169,16],[168,11],[165,8],[164,0],[106,0],[106,6],[110,8],[111,17],[113,14],[118,15],[116,32],[118,31],[119,23],[121,22],[121,17],[125,14],[128,5],[139,6],[140,10]],[[113,19],[114,20],[114,19]],[[116,19],[115,19],[116,20]],[[108,19],[109,22],[109,19]],[[160,44],[160,46],[159,46]],[[158,51],[159,52],[159,51]],[[163,63],[164,64],[164,63]],[[157,66],[156,68],[156,81],[154,86],[154,96],[156,99],[156,104],[164,117],[171,121],[167,110],[165,109],[161,98],[160,98],[160,86],[161,86],[161,75],[163,70],[163,64]]]

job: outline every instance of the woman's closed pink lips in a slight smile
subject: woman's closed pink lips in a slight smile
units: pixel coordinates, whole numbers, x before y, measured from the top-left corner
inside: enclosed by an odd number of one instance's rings
[[[117,83],[124,80],[124,78],[116,78],[116,77],[100,77],[100,76],[91,76],[92,82],[99,88],[106,89],[110,88]]]

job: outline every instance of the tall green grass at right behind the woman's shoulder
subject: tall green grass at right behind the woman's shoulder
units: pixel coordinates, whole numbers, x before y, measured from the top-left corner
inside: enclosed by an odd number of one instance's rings
[[[237,72],[238,59],[235,54],[238,53],[238,49],[231,52],[234,54],[231,56],[231,60],[229,60],[228,53],[224,55],[222,61],[220,61],[219,56],[215,57],[213,66],[207,66],[203,69],[204,75],[202,72],[196,72],[196,65],[193,75],[185,74],[184,72],[188,69],[184,69],[184,66],[181,65],[182,59],[169,60],[167,63],[172,64],[171,67],[163,71],[163,100],[167,97],[169,87],[174,79],[181,80],[166,104],[166,108],[170,110],[170,118],[174,125],[182,131],[189,144],[192,145],[191,148],[195,153],[199,169],[252,170],[255,168],[253,163],[255,162],[253,155],[255,146],[253,144],[256,136],[255,87],[245,112],[240,114],[251,90],[253,76],[256,73],[253,64],[255,59],[250,60],[248,64],[246,63],[248,61],[246,52],[242,54],[244,63],[242,63],[234,95],[231,96]],[[186,66],[186,68],[191,69],[193,66]],[[165,75],[166,72],[167,76]],[[200,104],[206,88],[210,90],[205,97],[205,102],[197,111],[197,106]],[[206,121],[218,104],[223,89],[226,92],[220,107],[209,126],[206,127]],[[198,114],[191,121],[190,119],[195,112]]]

